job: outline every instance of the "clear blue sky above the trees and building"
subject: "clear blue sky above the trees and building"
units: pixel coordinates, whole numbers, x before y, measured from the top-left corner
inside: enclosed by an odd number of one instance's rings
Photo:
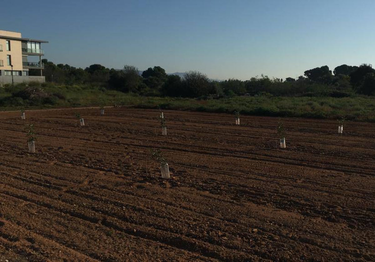
[[[1,10],[0,30],[47,40],[44,58],[82,68],[246,80],[375,61],[374,0],[18,0]]]

